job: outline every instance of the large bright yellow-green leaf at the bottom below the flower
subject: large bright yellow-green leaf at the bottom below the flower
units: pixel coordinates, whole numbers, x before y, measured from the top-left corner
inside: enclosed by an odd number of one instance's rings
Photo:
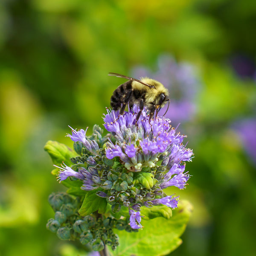
[[[179,208],[172,211],[173,215],[166,218],[143,220],[143,230],[137,233],[128,233],[114,230],[119,236],[120,245],[115,251],[109,249],[112,256],[161,256],[175,250],[181,243],[192,206],[188,201],[180,201]],[[110,247],[109,247],[110,248]]]

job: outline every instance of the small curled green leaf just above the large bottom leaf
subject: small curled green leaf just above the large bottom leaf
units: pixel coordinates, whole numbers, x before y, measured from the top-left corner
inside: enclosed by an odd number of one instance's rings
[[[149,220],[157,217],[169,219],[172,217],[172,209],[166,205],[157,205],[151,208],[142,207],[140,215],[145,216],[144,220]]]

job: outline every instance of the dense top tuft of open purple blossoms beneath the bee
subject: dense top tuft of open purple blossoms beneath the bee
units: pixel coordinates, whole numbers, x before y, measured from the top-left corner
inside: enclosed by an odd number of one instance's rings
[[[176,133],[170,120],[162,116],[150,119],[142,112],[136,124],[136,109],[118,117],[118,111],[108,111],[105,115],[105,128],[114,134],[116,143],[107,143],[106,156],[119,157],[127,169],[140,172],[143,167],[154,167],[160,155],[168,159],[168,167],[173,163],[188,161],[192,151],[181,143],[184,135]],[[131,170],[132,170],[131,169]]]

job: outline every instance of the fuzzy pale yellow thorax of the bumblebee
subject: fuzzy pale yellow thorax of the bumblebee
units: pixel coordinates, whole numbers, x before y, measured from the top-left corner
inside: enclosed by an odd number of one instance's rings
[[[141,84],[137,81],[133,81],[132,83],[132,87],[133,89],[137,89],[137,90],[146,90],[147,91],[147,97],[146,97],[146,102],[154,102],[155,98],[160,94],[160,93],[164,93],[166,96],[169,95],[168,90],[166,89],[166,87],[163,86],[163,84],[161,84],[160,82],[148,78],[148,77],[143,77],[141,78],[141,81],[150,84],[150,85],[154,85],[154,88],[150,88],[144,84]]]

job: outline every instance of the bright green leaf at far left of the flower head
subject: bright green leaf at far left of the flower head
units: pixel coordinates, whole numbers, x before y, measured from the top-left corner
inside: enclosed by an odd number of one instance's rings
[[[44,146],[44,150],[47,151],[47,153],[52,158],[52,162],[55,165],[60,165],[62,162],[65,162],[65,164],[73,165],[71,163],[70,158],[76,157],[76,152],[67,147],[65,144],[58,143],[57,141],[49,140]]]

